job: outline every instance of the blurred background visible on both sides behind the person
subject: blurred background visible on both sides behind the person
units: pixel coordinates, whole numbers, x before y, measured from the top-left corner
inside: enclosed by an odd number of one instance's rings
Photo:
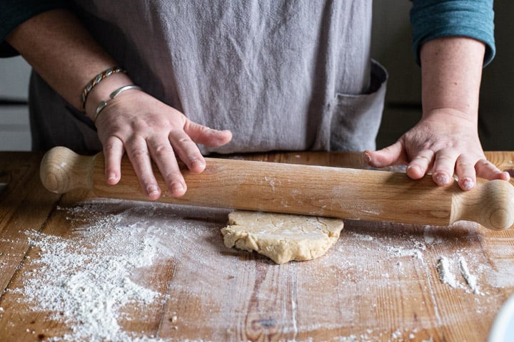
[[[420,68],[410,49],[410,1],[373,1],[372,56],[389,81],[377,147],[395,142],[421,115]],[[514,1],[495,1],[496,58],[483,71],[479,133],[485,150],[514,150]],[[0,59],[0,150],[30,150],[26,105],[30,68]]]

